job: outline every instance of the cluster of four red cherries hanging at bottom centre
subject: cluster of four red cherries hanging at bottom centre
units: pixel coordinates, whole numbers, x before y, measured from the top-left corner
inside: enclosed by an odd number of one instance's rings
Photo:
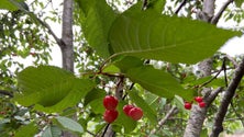
[[[118,99],[112,95],[107,95],[103,99],[103,106],[106,107],[103,119],[107,123],[113,123],[117,119],[119,115],[119,112],[117,111],[118,103],[119,103]],[[134,121],[138,121],[143,116],[142,109],[130,104],[124,105],[123,112],[125,113],[125,115],[127,115]]]

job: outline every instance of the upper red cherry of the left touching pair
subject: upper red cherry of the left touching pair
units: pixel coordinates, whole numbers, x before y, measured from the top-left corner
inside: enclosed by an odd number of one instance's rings
[[[118,105],[118,99],[112,96],[112,95],[107,95],[104,99],[103,99],[103,106],[107,109],[107,110],[115,110]]]

